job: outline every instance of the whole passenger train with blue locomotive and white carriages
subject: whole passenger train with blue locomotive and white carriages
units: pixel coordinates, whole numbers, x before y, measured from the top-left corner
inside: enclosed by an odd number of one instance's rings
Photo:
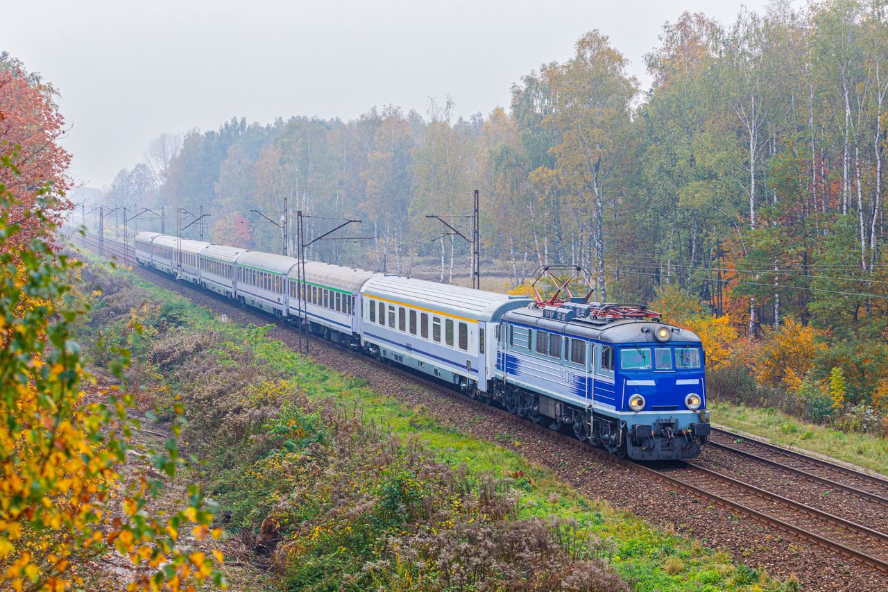
[[[535,298],[154,232],[139,265],[633,460],[686,460],[710,437],[705,352],[644,306],[590,301],[550,267]],[[588,283],[588,282],[587,282]],[[590,284],[591,285],[591,284]]]

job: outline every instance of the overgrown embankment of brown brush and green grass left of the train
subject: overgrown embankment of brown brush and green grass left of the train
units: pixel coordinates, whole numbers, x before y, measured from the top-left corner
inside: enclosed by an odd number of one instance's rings
[[[131,274],[86,280],[102,290],[84,327],[91,356],[100,363],[145,328],[131,387],[161,420],[184,405],[186,450],[205,463],[218,523],[286,587],[797,588],[767,575],[781,569],[767,553],[710,550],[743,536],[698,529],[722,512],[467,413],[456,396],[335,349],[313,348],[325,364],[306,360],[275,339],[281,328],[250,326],[255,317],[207,295],[212,310]],[[660,527],[596,500],[602,491],[619,507],[661,508]],[[838,569],[830,589],[843,588]]]

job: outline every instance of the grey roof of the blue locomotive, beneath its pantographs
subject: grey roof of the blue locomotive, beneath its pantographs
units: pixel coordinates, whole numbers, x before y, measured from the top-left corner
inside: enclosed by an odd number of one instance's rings
[[[670,340],[663,342],[664,345],[701,342],[700,338],[693,331],[688,331],[668,323],[656,323],[649,319],[624,318],[613,319],[608,322],[607,319],[575,318],[565,323],[555,319],[543,318],[542,308],[524,307],[509,311],[503,315],[503,321],[527,324],[538,329],[588,337],[593,340],[614,344],[650,342],[659,344],[660,341],[654,339],[654,332],[658,327],[666,325],[672,328],[673,331]]]

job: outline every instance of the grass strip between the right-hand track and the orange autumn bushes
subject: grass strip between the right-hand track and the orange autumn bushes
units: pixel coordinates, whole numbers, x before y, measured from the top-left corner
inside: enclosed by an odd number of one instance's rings
[[[868,434],[846,433],[807,423],[773,408],[743,404],[710,404],[712,421],[727,428],[765,436],[775,444],[788,444],[827,454],[888,475],[888,440]]]

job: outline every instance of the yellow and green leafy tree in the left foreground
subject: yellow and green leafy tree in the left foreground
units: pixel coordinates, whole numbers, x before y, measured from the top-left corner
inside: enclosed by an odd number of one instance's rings
[[[13,158],[0,156],[0,171],[21,188]],[[0,183],[0,588],[79,586],[88,564],[115,550],[139,573],[132,589],[194,589],[210,575],[221,584],[213,571],[221,555],[176,547],[186,529],[210,537],[200,490],[192,487],[186,507],[169,517],[146,505],[163,489],[156,470],[171,477],[184,465],[175,440],[135,455],[144,460],[131,485],[117,472],[138,427],[127,414],[132,396],[112,390],[90,401],[80,390],[91,376],[75,340],[83,314],[70,285],[75,265],[40,238],[55,229],[47,212],[57,211],[59,198],[49,183],[23,192],[30,206]],[[22,212],[27,239],[11,220]],[[132,339],[138,326],[134,318]],[[112,365],[119,378],[126,355]]]

